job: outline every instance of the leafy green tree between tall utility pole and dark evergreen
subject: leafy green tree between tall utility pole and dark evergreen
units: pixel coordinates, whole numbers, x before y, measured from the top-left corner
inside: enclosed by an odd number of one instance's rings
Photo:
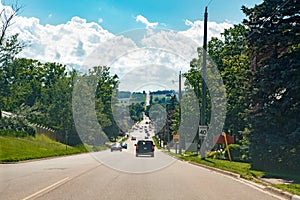
[[[216,63],[226,88],[227,113],[224,132],[237,136],[249,128],[251,69],[246,36],[248,30],[242,25],[226,29],[223,40],[213,38],[208,43],[209,56]]]

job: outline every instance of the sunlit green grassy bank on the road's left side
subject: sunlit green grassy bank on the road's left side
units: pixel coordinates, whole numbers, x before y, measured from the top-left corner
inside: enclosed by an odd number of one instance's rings
[[[1,162],[17,162],[82,152],[87,152],[83,145],[78,147],[66,146],[40,134],[35,137],[0,136]]]

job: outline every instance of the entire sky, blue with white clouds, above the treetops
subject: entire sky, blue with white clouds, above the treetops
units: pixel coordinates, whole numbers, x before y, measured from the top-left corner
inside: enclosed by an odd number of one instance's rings
[[[242,5],[253,7],[262,2],[0,0],[0,8],[2,5],[9,8],[15,1],[22,9],[8,34],[18,34],[18,39],[26,44],[19,56],[57,62],[82,71],[87,70],[85,64],[89,59],[99,61],[89,63],[95,66],[110,65],[114,58],[116,62],[111,69],[117,74],[145,65],[171,66],[175,71],[186,71],[189,61],[197,57],[197,48],[203,44],[205,6],[209,4],[210,40],[221,38],[225,29],[242,22],[245,18]],[[100,47],[108,50],[102,49],[97,54],[100,57],[94,58],[93,52]],[[148,47],[156,51],[145,51]]]

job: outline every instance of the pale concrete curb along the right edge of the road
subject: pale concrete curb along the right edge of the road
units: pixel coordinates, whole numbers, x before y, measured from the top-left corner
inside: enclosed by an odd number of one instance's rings
[[[163,151],[163,152],[164,153],[168,153],[168,151]],[[170,155],[170,154],[168,154],[168,155]],[[216,171],[216,172],[219,172],[221,174],[224,174],[224,175],[227,175],[227,176],[231,176],[231,177],[239,179],[239,180],[243,180],[243,181],[245,180],[248,183],[250,182],[255,187],[258,187],[258,188],[260,188],[260,189],[262,189],[264,191],[267,191],[267,192],[270,192],[270,193],[275,194],[277,196],[280,196],[280,197],[282,197],[284,199],[288,199],[288,200],[300,200],[300,196],[298,196],[298,195],[291,194],[289,192],[280,190],[280,189],[272,187],[272,186],[264,186],[264,185],[257,184],[257,183],[255,183],[253,181],[241,178],[241,176],[239,174],[236,174],[236,173],[233,173],[233,172],[229,172],[229,171],[225,171],[225,170],[218,169],[218,168],[214,168],[214,167],[210,167],[210,166],[206,166],[206,165],[203,165],[203,164],[191,162],[191,161],[185,161],[185,160],[182,160],[182,159],[180,159],[180,158],[178,158],[176,156],[173,156],[173,155],[170,155],[170,156],[172,156],[173,158],[175,158],[177,160],[180,160],[180,161],[183,161],[183,162],[187,162],[187,163],[192,164],[192,165],[196,165],[196,166],[203,167],[203,168],[206,168],[206,169],[209,169],[209,170],[212,170],[212,171]]]

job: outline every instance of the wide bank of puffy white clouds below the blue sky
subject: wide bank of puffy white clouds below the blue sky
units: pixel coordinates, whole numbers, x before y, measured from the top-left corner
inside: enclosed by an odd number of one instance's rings
[[[19,39],[26,44],[20,56],[58,62],[82,71],[88,66],[107,65],[121,77],[142,66],[149,69],[155,66],[151,72],[159,71],[159,66],[170,67],[176,72],[188,69],[189,61],[197,56],[197,47],[202,46],[202,21],[185,20],[187,30],[177,33],[153,29],[158,22],[149,22],[142,15],[135,19],[147,29],[116,36],[99,25],[102,18],[96,23],[75,16],[64,24],[42,25],[37,18],[17,16],[8,34],[19,33]],[[224,28],[230,26],[226,22],[209,22],[209,38],[220,37]],[[171,82],[173,77],[169,76],[169,79]]]

